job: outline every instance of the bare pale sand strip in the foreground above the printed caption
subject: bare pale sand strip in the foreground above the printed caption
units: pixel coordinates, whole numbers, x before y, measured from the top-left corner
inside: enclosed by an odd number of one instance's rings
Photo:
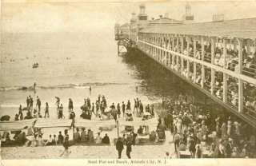
[[[174,144],[171,142],[172,136],[166,131],[166,142],[159,145],[135,145],[132,147],[131,157],[135,158],[164,158],[166,152],[170,152],[174,158]],[[44,147],[10,147],[1,148],[2,159],[60,159],[60,154],[63,152],[63,146],[44,146]],[[115,146],[77,146],[70,147],[69,158],[73,159],[88,159],[88,158],[118,158],[118,152]],[[126,147],[122,151],[122,158],[127,158]]]

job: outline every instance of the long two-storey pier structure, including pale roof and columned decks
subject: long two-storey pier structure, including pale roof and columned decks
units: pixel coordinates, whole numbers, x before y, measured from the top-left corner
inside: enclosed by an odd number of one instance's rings
[[[256,18],[137,25],[125,41],[256,127]]]

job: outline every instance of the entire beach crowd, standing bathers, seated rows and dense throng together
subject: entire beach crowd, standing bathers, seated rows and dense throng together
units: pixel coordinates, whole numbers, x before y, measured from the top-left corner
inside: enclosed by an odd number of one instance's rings
[[[30,99],[30,97],[28,97]],[[33,99],[28,100],[27,111],[31,113],[33,108]],[[140,117],[142,114],[148,113],[154,117],[154,106],[146,105],[145,109],[142,105],[142,101],[138,98],[134,99],[134,108],[132,109],[131,103],[128,100],[125,104],[122,101],[122,105],[109,106],[110,111],[107,110],[106,97],[98,96],[96,104],[90,102],[90,98],[86,98],[84,104],[81,106],[82,114],[80,117],[91,119],[91,115],[102,118],[104,115],[110,112],[110,116],[116,121],[120,117],[126,117],[126,111]],[[58,118],[63,117],[62,104],[60,99],[56,101]],[[98,105],[98,106],[97,106]],[[102,105],[102,106],[101,106]],[[41,101],[37,97],[37,110],[41,110]],[[49,105],[46,104],[45,117],[49,117]],[[136,142],[136,136],[138,134],[149,134],[151,141],[165,139],[165,129],[169,128],[173,136],[174,152],[177,156],[182,157],[182,152],[190,152],[191,158],[201,157],[254,157],[255,155],[255,135],[250,126],[239,121],[235,117],[226,117],[224,114],[218,114],[217,116],[210,113],[202,105],[193,104],[190,97],[178,95],[178,97],[165,98],[162,101],[162,108],[165,110],[166,115],[158,118],[158,126],[156,131],[149,131],[146,126],[140,126],[135,133],[132,130],[129,133],[119,137],[115,142],[118,150],[118,157],[121,157],[122,149],[126,145],[126,155],[130,158],[131,145]],[[116,111],[113,111],[116,110]],[[22,120],[22,106],[19,108],[18,120]],[[61,112],[60,112],[61,111]],[[68,103],[69,118],[74,120],[74,105],[72,99],[69,99]],[[40,112],[40,111],[38,111]],[[38,113],[37,112],[37,113]],[[89,117],[85,117],[88,116]],[[32,116],[32,115],[31,115]],[[26,118],[24,118],[26,119]],[[165,124],[162,126],[162,124]],[[94,132],[88,128],[76,128],[75,121],[72,121],[70,128],[73,127],[73,139],[72,144],[81,143],[94,143],[94,144],[110,144],[110,137],[105,134],[101,136],[101,132]],[[75,131],[74,131],[75,130]],[[32,132],[32,139],[28,139],[25,132],[15,132],[14,138],[10,138],[10,133],[5,132],[5,144],[26,144],[27,146],[47,146],[62,144],[65,148],[65,152],[68,152],[70,146],[70,139],[68,136],[68,130],[64,131],[64,135],[60,131],[58,136],[56,134],[50,135],[48,139],[42,139],[42,132],[40,128],[34,128]],[[65,140],[68,140],[65,142]],[[68,144],[68,145],[67,145]]]

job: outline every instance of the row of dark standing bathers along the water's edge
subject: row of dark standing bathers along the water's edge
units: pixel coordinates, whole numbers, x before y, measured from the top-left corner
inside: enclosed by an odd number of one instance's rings
[[[58,119],[75,119],[75,113],[74,113],[74,104],[71,98],[68,100],[68,117],[64,116],[63,113],[63,105],[60,101],[60,97],[55,97],[57,105],[57,117]],[[44,116],[42,116],[42,106],[41,106],[41,100],[37,96],[36,98],[36,106],[33,107],[33,97],[27,97],[26,99],[26,107],[22,108],[22,105],[18,108],[18,113],[14,116],[14,121],[22,121],[26,119],[32,119],[32,118],[50,118],[50,106],[48,102],[46,102],[46,106],[44,108]],[[110,116],[114,117],[114,120],[117,120],[118,117],[126,116],[126,110],[129,110],[130,113],[135,113],[136,116],[141,117],[143,113],[150,113],[154,117],[154,105],[146,105],[144,106],[142,104],[142,101],[137,98],[134,99],[134,108],[131,108],[131,102],[130,100],[125,103],[122,101],[122,103],[117,103],[116,105],[112,103],[110,107],[107,107],[107,101],[106,97],[104,95],[98,95],[98,99],[95,102],[91,102],[90,98],[87,97],[84,99],[84,104],[80,107],[82,110],[82,113],[80,114],[80,117],[83,119],[91,120],[92,115],[95,117],[98,117],[99,119],[103,120],[105,118],[110,118]],[[23,112],[26,111],[26,116],[23,117]]]

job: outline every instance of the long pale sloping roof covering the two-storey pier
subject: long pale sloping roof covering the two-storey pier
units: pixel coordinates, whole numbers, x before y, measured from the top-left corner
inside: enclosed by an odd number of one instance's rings
[[[140,32],[255,39],[256,18],[226,20],[223,22],[198,22],[172,26],[147,26]]]

